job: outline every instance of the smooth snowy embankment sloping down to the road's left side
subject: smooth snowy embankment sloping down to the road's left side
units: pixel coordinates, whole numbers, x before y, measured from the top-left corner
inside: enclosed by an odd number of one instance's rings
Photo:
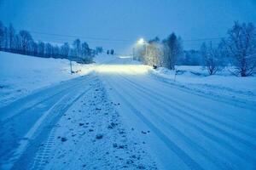
[[[90,71],[91,65],[73,62],[73,70],[81,71],[71,75],[67,59],[0,52],[0,68],[0,106],[3,106],[36,89],[84,75]]]

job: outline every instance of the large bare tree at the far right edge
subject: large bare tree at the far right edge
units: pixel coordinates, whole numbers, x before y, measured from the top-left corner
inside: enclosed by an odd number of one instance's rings
[[[256,30],[253,24],[236,21],[223,43],[226,54],[236,67],[234,73],[241,77],[252,75],[256,69]]]

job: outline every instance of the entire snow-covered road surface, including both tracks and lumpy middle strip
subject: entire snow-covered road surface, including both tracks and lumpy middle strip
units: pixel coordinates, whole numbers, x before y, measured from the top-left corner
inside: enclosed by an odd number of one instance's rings
[[[0,108],[0,167],[256,168],[255,105],[189,91],[131,58],[105,63]]]

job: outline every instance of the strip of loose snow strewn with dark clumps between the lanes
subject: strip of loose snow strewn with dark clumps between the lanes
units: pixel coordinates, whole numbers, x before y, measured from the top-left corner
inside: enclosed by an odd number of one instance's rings
[[[130,139],[130,127],[127,131],[123,128],[115,111],[117,105],[108,101],[101,84],[61,117],[55,135],[67,141],[55,138],[45,169],[156,169],[142,150],[143,143]],[[96,139],[98,133],[103,134],[100,140]]]

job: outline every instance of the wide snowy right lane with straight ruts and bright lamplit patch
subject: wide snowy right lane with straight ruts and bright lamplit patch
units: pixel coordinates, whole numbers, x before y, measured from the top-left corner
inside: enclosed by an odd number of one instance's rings
[[[117,59],[98,73],[160,168],[256,168],[255,109],[161,82],[129,63]]]

